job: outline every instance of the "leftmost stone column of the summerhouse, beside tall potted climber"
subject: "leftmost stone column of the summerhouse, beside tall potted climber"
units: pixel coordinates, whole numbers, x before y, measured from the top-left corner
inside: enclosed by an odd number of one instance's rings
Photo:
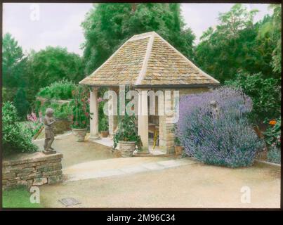
[[[91,90],[89,109],[90,112],[92,113],[91,122],[90,122],[91,135],[89,136],[89,141],[94,141],[100,139],[100,136],[98,134],[98,88],[97,87],[93,87]]]

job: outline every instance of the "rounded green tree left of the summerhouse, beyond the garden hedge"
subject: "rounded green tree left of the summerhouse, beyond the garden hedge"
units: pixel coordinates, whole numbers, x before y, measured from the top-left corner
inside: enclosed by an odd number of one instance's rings
[[[29,54],[27,72],[27,94],[32,101],[41,87],[62,79],[79,82],[84,78],[81,58],[61,47],[48,46],[46,49]]]

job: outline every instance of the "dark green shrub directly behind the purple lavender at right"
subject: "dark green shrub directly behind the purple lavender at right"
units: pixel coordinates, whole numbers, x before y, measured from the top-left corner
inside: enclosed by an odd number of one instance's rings
[[[265,118],[275,118],[281,114],[281,86],[278,79],[264,79],[261,73],[248,75],[240,72],[235,79],[226,81],[225,84],[242,89],[244,94],[251,97],[252,120],[263,121]]]

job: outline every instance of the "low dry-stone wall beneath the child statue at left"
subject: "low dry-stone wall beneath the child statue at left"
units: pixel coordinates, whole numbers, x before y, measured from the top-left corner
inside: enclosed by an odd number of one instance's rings
[[[2,188],[41,186],[62,181],[62,153],[22,153],[6,158],[2,164]]]

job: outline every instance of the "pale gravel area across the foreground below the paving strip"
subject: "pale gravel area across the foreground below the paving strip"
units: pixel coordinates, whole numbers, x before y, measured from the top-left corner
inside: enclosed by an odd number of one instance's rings
[[[241,202],[243,187],[249,188],[251,203]],[[40,190],[45,207],[65,207],[58,200],[72,197],[81,202],[75,207],[275,208],[280,206],[280,168],[256,163],[229,169],[197,162],[42,186]]]

